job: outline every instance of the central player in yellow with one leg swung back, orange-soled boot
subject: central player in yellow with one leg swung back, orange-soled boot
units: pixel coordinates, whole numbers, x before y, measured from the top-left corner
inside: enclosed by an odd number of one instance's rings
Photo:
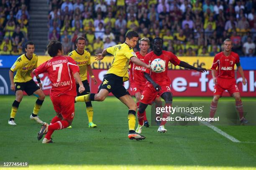
[[[129,92],[123,86],[123,82],[129,80],[128,76],[128,65],[131,62],[142,67],[150,69],[151,67],[140,59],[137,58],[133,47],[138,42],[138,33],[135,31],[128,31],[125,35],[125,42],[118,44],[113,47],[108,47],[102,51],[101,54],[96,54],[96,60],[102,60],[107,53],[114,55],[114,59],[110,69],[104,76],[104,79],[99,87],[97,94],[90,93],[83,96],[76,97],[78,102],[89,102],[89,101],[103,101],[108,96],[108,93],[112,92],[121,102],[123,102],[128,108],[128,125],[129,133],[128,138],[133,140],[143,140],[145,137],[135,132],[136,123],[136,103],[129,94]]]

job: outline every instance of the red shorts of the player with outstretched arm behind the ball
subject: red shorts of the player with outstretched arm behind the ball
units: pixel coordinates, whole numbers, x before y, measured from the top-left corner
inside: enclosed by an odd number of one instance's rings
[[[155,99],[156,96],[161,96],[164,92],[172,92],[170,83],[159,84],[161,90],[157,92],[153,85],[146,86],[141,94],[141,102],[147,105],[150,105]]]

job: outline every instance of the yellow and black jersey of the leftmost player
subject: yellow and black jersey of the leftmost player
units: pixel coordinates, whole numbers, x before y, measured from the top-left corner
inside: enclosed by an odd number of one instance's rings
[[[10,68],[12,72],[16,72],[14,76],[14,82],[28,82],[32,80],[31,72],[37,67],[37,55],[33,54],[32,58],[29,60],[26,54],[20,55],[18,59],[14,62],[13,66]]]

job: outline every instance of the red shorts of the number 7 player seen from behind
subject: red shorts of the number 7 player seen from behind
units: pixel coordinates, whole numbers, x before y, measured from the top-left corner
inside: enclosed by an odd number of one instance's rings
[[[73,120],[74,98],[74,96],[70,95],[51,96],[51,102],[54,105],[55,112],[60,113],[64,119]]]

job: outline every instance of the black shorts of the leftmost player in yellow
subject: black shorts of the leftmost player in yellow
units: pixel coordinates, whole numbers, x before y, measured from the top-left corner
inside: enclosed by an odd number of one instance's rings
[[[28,82],[14,82],[15,92],[17,90],[25,91],[28,95],[33,95],[33,93],[40,89],[40,87],[34,82],[34,80],[29,80]]]

